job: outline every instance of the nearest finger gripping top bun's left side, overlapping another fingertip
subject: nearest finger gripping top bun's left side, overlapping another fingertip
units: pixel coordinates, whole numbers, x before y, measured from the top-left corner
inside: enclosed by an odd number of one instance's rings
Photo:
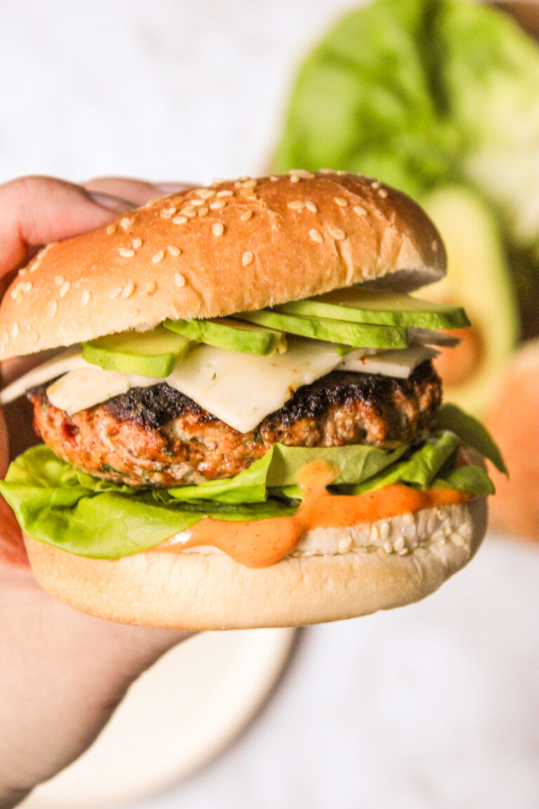
[[[102,205],[79,185],[52,177],[20,177],[0,185],[0,277],[27,259],[28,249],[110,222],[125,203]]]

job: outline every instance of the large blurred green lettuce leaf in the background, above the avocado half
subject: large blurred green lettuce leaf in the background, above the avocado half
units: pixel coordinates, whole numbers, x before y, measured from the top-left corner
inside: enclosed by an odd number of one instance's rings
[[[375,0],[305,59],[277,171],[364,172],[415,199],[458,180],[539,251],[539,49],[502,11],[467,0]]]

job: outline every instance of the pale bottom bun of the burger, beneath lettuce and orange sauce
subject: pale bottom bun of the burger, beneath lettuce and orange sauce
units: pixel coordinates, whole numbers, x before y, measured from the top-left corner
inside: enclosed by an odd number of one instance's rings
[[[397,547],[404,555],[387,553],[380,539],[392,528],[395,544],[394,529],[401,529],[394,520],[410,524],[394,518],[373,523],[377,547],[320,555],[311,550],[258,569],[221,553],[148,551],[104,560],[74,556],[29,537],[25,543],[45,590],[107,621],[192,630],[299,626],[402,607],[437,590],[481,544],[486,499],[444,506],[442,511],[451,517],[450,530],[436,529],[410,551],[402,549],[401,542]],[[381,523],[390,526],[381,531]],[[341,529],[318,528],[317,534],[331,536],[336,530]],[[356,530],[365,535],[364,525],[342,530],[349,537]]]

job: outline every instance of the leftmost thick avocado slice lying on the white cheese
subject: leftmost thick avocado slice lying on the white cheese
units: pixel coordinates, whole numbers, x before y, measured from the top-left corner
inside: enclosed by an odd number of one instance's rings
[[[158,326],[151,332],[120,332],[82,345],[82,358],[105,371],[161,379],[171,374],[189,349],[187,337]]]

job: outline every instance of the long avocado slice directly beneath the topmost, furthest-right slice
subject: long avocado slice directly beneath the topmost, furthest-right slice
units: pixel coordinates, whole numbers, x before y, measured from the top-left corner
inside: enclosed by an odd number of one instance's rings
[[[344,343],[359,349],[404,349],[408,345],[406,328],[396,326],[373,326],[331,320],[326,317],[287,315],[273,309],[244,311],[236,317],[259,326],[278,328],[289,334],[299,334],[301,337],[313,337],[315,340],[331,343]]]

